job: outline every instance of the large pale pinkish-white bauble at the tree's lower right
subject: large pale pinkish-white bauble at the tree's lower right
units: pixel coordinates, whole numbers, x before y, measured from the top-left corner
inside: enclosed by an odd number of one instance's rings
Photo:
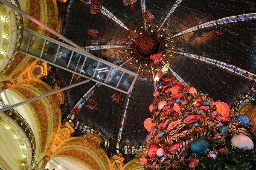
[[[230,142],[236,148],[252,149],[254,147],[253,141],[245,135],[235,135],[231,138]]]

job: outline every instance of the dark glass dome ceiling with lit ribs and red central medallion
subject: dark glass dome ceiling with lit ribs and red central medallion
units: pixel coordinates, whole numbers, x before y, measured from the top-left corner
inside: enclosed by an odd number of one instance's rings
[[[98,109],[83,107],[80,114],[107,136],[118,139],[122,134],[123,142],[145,142],[143,122],[151,114],[148,106],[153,102],[153,77],[166,63],[170,64],[170,77],[182,79],[214,100],[229,104],[253,83],[253,1],[137,0],[134,11],[122,0],[99,2],[99,12],[91,14],[95,1],[70,0],[62,33],[97,57],[139,74],[130,95],[93,83],[79,87],[84,92],[95,87],[90,97],[98,103]],[[152,23],[143,20],[146,11],[154,16]],[[98,31],[97,37],[88,34],[89,29]],[[138,35],[136,42],[125,41],[127,30]],[[151,65],[150,56],[157,53],[164,59]],[[63,74],[62,78],[66,77]],[[120,95],[118,103],[112,102],[116,92]],[[69,94],[72,106],[83,97],[78,88]]]

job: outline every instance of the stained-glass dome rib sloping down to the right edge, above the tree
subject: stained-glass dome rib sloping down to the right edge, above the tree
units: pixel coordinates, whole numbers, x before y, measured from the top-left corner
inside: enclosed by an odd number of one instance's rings
[[[184,57],[190,58],[190,59],[195,59],[198,60],[200,62],[204,62],[208,65],[213,65],[217,68],[220,68],[224,71],[227,71],[228,73],[232,73],[238,77],[243,77],[244,79],[249,79],[252,82],[255,82],[256,79],[250,79],[250,77],[256,77],[256,74],[253,74],[249,71],[246,71],[244,69],[241,69],[235,65],[230,65],[227,64],[225,62],[219,61],[217,59],[211,59],[209,57],[204,57],[204,56],[200,56],[200,55],[196,55],[196,54],[191,54],[191,53],[184,53],[182,51],[170,51],[170,50],[166,50],[167,52],[170,53],[174,53],[174,54],[180,54]]]

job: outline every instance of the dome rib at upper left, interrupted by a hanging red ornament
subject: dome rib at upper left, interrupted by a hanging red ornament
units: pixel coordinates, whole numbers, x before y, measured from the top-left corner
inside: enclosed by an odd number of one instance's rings
[[[91,0],[80,0],[80,1],[83,2],[83,3],[86,3],[87,5],[91,4]],[[104,14],[109,19],[111,19],[113,22],[115,22],[121,28],[123,28],[125,30],[130,30],[124,23],[122,23],[121,20],[119,20],[114,14],[111,13],[111,11],[109,11],[103,5],[102,5],[102,8],[101,8],[101,13]]]

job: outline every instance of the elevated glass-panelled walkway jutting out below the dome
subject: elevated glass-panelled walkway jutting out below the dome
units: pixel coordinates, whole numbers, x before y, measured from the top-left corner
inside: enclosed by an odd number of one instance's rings
[[[77,48],[24,29],[21,53],[129,94],[138,74]]]

